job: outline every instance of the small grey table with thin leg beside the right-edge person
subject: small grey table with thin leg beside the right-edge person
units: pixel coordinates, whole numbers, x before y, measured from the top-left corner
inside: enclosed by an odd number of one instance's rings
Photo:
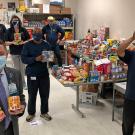
[[[114,83],[113,87],[113,106],[112,106],[112,121],[114,121],[114,115],[115,115],[115,93],[116,91],[120,92],[121,94],[125,95],[126,92],[126,82],[121,83]]]

